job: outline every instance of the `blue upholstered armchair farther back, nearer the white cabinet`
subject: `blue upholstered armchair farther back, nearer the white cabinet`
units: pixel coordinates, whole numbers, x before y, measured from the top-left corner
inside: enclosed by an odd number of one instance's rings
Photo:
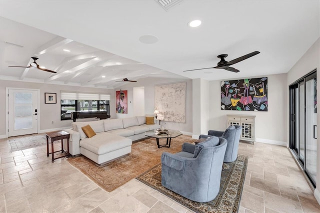
[[[200,134],[199,138],[207,138],[209,136],[223,137],[227,140],[227,146],[224,155],[224,162],[232,162],[238,155],[239,140],[242,127],[240,125],[230,125],[225,131],[209,130],[208,134]]]

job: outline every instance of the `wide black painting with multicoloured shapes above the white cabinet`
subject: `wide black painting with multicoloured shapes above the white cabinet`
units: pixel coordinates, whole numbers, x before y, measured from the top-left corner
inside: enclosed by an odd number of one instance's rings
[[[221,81],[221,109],[267,111],[268,78]]]

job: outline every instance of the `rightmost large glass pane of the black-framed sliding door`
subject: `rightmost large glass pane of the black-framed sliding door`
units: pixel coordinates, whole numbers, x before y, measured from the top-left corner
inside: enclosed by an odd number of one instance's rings
[[[305,171],[316,178],[316,79],[305,82]]]

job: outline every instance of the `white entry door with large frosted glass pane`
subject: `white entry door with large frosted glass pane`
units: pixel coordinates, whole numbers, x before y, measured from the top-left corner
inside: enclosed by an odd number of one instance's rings
[[[8,136],[38,132],[38,90],[8,89]]]

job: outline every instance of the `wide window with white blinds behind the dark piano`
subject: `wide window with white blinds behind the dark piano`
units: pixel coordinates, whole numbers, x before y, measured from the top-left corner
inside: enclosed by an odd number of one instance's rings
[[[109,114],[108,94],[61,91],[61,120],[71,119],[72,111],[106,111]]]

